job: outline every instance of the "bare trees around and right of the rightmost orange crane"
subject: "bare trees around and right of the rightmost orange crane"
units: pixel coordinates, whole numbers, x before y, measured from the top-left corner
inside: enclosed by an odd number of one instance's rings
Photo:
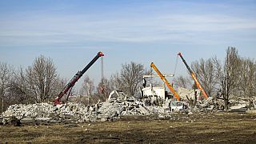
[[[256,97],[256,62],[251,58],[241,58],[238,50],[228,47],[224,62],[217,57],[200,59],[191,63],[191,69],[210,96],[219,94],[228,109],[230,96],[247,99],[250,105]],[[182,76],[175,79],[178,86],[191,88],[191,78]]]

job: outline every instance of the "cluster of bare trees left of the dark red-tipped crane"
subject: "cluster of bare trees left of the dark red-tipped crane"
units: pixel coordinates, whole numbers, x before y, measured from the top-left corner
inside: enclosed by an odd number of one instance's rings
[[[58,77],[52,59],[36,58],[32,66],[14,70],[6,62],[0,62],[1,112],[14,103],[35,103],[52,100],[65,85]]]

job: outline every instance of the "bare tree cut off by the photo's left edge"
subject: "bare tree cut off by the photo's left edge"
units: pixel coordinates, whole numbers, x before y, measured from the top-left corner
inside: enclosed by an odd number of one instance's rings
[[[1,98],[1,112],[5,110],[5,95],[10,84],[10,79],[13,76],[13,68],[7,65],[6,62],[0,62],[0,98]]]

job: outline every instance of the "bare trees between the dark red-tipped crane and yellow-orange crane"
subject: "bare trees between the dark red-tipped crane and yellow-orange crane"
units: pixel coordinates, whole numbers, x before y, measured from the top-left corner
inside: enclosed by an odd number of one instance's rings
[[[96,103],[98,100],[105,101],[112,90],[122,90],[128,95],[138,98],[144,74],[152,74],[152,70],[146,70],[142,64],[130,62],[122,64],[122,69],[112,74],[110,79],[103,78],[98,86],[94,86],[94,81],[86,75],[80,94],[87,96],[87,98],[83,98],[85,104]]]

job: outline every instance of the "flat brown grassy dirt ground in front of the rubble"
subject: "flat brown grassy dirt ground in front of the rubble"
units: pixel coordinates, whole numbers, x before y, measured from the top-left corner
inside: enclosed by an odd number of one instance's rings
[[[0,126],[0,143],[256,143],[256,115],[173,114],[114,122]]]

